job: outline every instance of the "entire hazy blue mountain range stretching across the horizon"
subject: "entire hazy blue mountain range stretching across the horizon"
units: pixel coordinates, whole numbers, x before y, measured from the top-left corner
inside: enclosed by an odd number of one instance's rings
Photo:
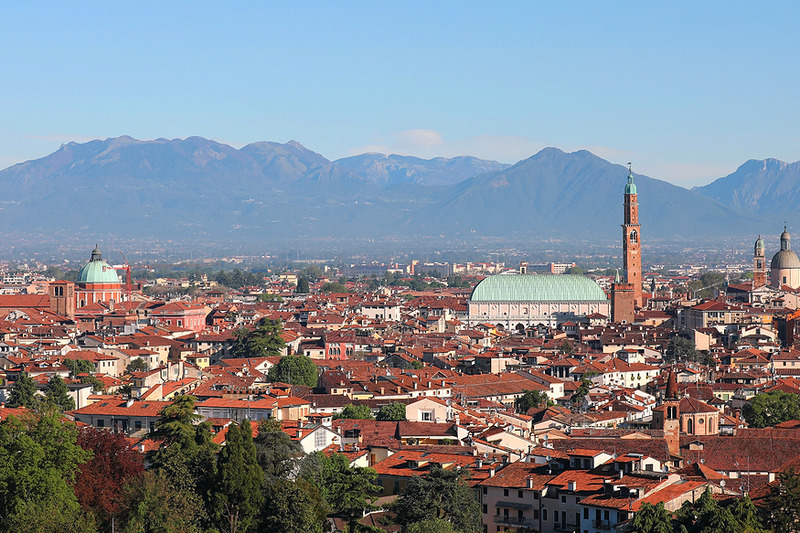
[[[0,223],[42,239],[116,236],[268,245],[301,239],[614,239],[628,170],[546,148],[515,165],[362,154],[296,141],[240,149],[123,136],[0,171]],[[800,164],[748,161],[687,190],[636,175],[643,236],[749,235],[800,221]]]

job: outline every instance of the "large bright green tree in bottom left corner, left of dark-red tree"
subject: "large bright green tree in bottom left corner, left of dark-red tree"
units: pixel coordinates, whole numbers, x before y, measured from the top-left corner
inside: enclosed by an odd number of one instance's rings
[[[76,441],[75,425],[56,415],[24,420],[9,416],[0,422],[0,529],[68,532],[94,527],[90,517],[81,517],[72,489],[79,466],[91,457]]]

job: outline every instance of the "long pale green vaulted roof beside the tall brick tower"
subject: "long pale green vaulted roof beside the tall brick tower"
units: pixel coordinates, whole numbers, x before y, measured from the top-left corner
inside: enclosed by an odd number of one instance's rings
[[[499,274],[475,286],[473,302],[605,302],[606,293],[584,276],[571,274]]]

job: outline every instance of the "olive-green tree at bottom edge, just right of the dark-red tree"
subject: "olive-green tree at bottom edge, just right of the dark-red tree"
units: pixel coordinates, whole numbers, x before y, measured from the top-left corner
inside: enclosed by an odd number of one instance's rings
[[[128,482],[120,498],[122,533],[200,533],[202,509],[163,471],[148,471]]]

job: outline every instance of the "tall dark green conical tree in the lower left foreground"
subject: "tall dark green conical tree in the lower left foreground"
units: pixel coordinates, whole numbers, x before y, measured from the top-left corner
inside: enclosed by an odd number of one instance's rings
[[[214,517],[220,531],[243,533],[250,528],[263,502],[263,479],[250,421],[231,424],[217,459],[213,492]]]

